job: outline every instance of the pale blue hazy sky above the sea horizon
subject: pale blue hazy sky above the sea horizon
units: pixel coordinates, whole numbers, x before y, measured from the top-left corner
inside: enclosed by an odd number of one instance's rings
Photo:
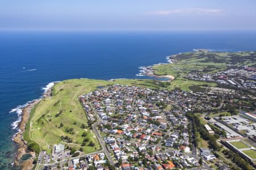
[[[256,1],[7,0],[0,29],[256,30]]]

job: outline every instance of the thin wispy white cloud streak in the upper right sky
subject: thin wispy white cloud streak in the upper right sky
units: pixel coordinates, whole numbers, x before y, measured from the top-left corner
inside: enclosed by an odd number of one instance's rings
[[[222,10],[219,9],[205,9],[205,8],[190,8],[190,9],[176,9],[176,10],[159,10],[152,11],[153,15],[170,15],[170,14],[216,14]]]

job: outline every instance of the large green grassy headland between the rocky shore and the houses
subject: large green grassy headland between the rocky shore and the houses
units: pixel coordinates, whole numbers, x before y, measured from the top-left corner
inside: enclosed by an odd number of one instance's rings
[[[92,80],[92,79],[71,79],[57,83],[53,87],[52,96],[40,101],[32,110],[30,120],[24,131],[24,139],[36,145],[38,150],[51,152],[53,145],[63,143],[79,150],[83,148],[85,153],[94,152],[100,149],[95,135],[89,128],[82,129],[81,125],[87,126],[87,118],[77,97],[95,90],[98,86],[109,86],[112,84],[127,84],[130,86],[143,86],[147,88],[160,88],[153,80]],[[63,124],[63,126],[60,126]],[[67,130],[72,129],[72,131]],[[86,137],[82,137],[82,133]],[[71,143],[61,140],[61,136],[68,136]],[[88,138],[85,146],[82,145],[84,138]],[[88,146],[92,141],[94,147]]]

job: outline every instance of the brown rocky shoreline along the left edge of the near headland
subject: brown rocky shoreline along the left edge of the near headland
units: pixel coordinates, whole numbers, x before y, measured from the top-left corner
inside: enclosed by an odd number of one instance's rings
[[[57,82],[54,82],[56,84]],[[19,122],[19,131],[15,134],[13,141],[18,145],[18,150],[16,151],[15,160],[14,160],[14,166],[20,167],[20,169],[32,169],[34,167],[33,160],[36,157],[35,152],[31,152],[27,149],[27,142],[23,139],[23,133],[26,128],[26,124],[28,119],[30,118],[31,110],[35,107],[36,104],[38,104],[42,99],[45,97],[51,96],[52,87],[49,87],[46,91],[43,93],[43,97],[33,100],[28,103],[26,107],[22,109],[22,120]],[[24,154],[31,154],[32,158],[22,162],[20,161],[20,158],[22,158],[22,155]]]

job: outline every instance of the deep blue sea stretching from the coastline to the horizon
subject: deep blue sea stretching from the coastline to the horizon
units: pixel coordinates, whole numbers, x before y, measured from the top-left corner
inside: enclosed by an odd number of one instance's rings
[[[256,50],[256,32],[0,32],[0,169],[13,163],[18,105],[49,82],[71,78],[145,78],[139,66],[192,49]],[[14,110],[13,110],[14,111]]]

